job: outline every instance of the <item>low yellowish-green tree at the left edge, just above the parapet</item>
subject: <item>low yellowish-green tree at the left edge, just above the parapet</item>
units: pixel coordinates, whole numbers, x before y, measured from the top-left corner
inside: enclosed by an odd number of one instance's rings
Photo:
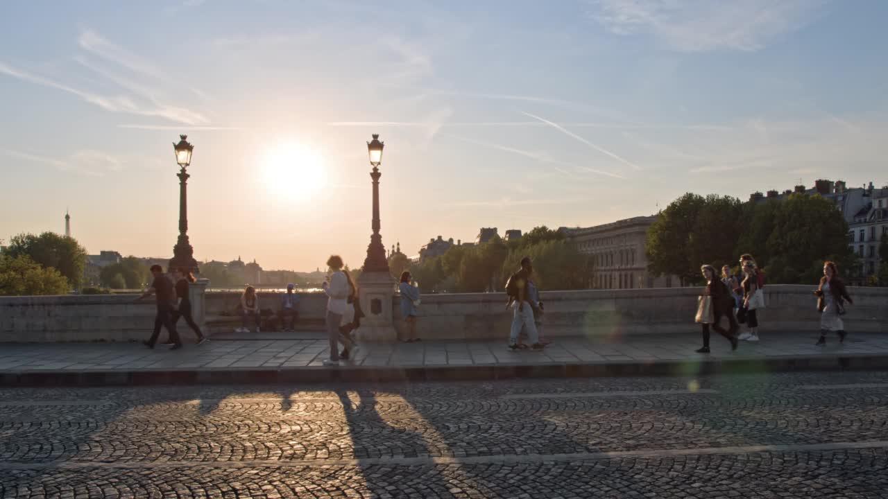
[[[0,295],[65,295],[70,289],[58,270],[37,264],[27,255],[0,254]]]

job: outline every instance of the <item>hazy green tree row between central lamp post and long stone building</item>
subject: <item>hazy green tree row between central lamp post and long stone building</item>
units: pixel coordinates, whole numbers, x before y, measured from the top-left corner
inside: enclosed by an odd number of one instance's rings
[[[502,291],[522,257],[533,259],[535,281],[542,289],[589,288],[592,257],[568,242],[565,234],[546,226],[535,227],[517,241],[495,236],[480,245],[454,245],[440,257],[422,262],[396,253],[389,257],[389,268],[395,279],[408,270],[424,293],[478,293]]]

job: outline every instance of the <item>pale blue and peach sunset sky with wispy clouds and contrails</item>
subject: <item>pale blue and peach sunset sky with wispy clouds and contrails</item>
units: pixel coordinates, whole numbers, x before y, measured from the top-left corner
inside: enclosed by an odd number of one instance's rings
[[[686,192],[888,183],[888,2],[17,2],[0,7],[0,239],[360,266],[366,142],[409,255],[654,214]]]

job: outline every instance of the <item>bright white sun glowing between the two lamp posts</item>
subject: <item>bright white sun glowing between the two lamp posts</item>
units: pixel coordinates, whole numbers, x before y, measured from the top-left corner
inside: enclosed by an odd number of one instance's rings
[[[262,182],[284,199],[305,200],[320,194],[327,183],[327,166],[317,151],[287,142],[266,154]]]

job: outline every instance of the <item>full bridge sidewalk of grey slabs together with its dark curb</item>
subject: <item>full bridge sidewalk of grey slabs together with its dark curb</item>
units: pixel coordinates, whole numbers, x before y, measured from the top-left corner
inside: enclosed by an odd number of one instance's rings
[[[505,341],[423,341],[361,345],[353,360],[324,368],[326,340],[216,340],[170,352],[126,344],[4,344],[0,384],[274,383],[515,376],[710,374],[737,370],[888,368],[888,335],[851,334],[814,346],[817,333],[771,333],[731,352],[699,334],[559,337],[543,352],[511,352]]]

